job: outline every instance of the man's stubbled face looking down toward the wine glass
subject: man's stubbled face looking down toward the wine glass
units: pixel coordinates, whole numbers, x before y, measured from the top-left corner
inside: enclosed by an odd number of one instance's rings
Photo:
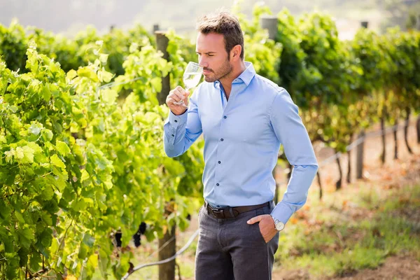
[[[198,55],[198,63],[203,66],[203,75],[206,82],[225,78],[232,72],[232,64],[228,59],[225,49],[223,34],[202,34],[197,36],[195,50]]]

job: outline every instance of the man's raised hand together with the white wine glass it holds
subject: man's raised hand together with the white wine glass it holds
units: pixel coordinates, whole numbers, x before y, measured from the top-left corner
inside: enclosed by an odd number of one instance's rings
[[[183,113],[188,109],[188,95],[190,95],[190,92],[188,90],[190,88],[193,88],[200,83],[200,79],[202,76],[203,67],[195,62],[188,62],[186,71],[183,74],[183,82],[186,85],[186,90],[183,90],[182,87],[178,86],[175,88],[175,90],[172,90],[169,92],[169,95],[167,97],[167,104],[169,106],[169,109],[173,113],[180,112]],[[169,99],[169,103],[168,103]],[[179,113],[179,115],[181,115]]]

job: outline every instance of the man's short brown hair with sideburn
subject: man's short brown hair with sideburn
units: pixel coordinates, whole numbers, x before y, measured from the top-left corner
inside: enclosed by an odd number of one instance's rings
[[[202,34],[223,34],[228,59],[230,50],[235,45],[241,45],[240,57],[242,60],[244,59],[244,34],[242,34],[241,25],[239,25],[239,20],[235,15],[225,10],[210,15],[203,15],[197,21],[197,30]]]

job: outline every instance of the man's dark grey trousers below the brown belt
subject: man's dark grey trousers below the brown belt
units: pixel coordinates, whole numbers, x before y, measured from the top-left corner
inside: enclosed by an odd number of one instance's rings
[[[270,214],[270,206],[218,219],[200,208],[200,234],[195,254],[196,280],[272,279],[274,253],[279,247],[279,232],[265,243],[259,223],[248,225],[250,218]]]

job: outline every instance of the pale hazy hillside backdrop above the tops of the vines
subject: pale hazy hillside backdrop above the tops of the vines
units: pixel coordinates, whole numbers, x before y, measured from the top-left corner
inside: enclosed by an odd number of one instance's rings
[[[251,17],[257,1],[243,0],[243,12]],[[34,25],[42,29],[66,35],[75,34],[86,25],[94,25],[99,31],[107,31],[111,25],[127,28],[139,22],[151,30],[158,23],[162,29],[174,27],[179,33],[194,31],[197,16],[216,8],[230,8],[233,1],[226,0],[3,0],[0,1],[0,23],[9,25],[18,18],[22,25]],[[294,15],[321,10],[337,19],[343,32],[352,33],[360,20],[369,20],[370,28],[380,30],[398,18],[404,25],[409,10],[420,10],[418,0],[267,0],[276,14],[283,7]],[[392,13],[391,13],[392,11]],[[349,35],[350,36],[350,35]]]

